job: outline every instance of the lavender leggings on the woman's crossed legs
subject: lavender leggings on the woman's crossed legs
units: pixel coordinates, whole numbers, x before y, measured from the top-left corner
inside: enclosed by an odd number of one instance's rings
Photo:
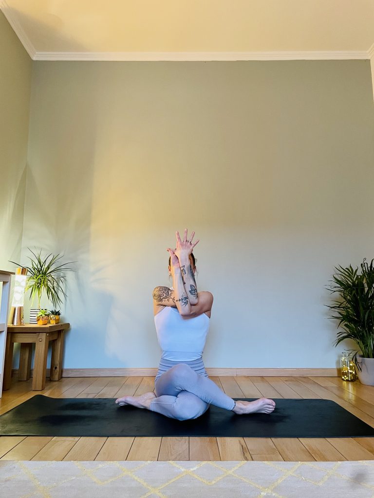
[[[150,409],[178,420],[197,418],[210,404],[226,410],[235,406],[235,401],[210,380],[202,359],[184,363],[161,360],[155,393]]]

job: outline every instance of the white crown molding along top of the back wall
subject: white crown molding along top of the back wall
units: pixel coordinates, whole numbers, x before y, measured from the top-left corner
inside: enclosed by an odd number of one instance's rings
[[[249,61],[370,59],[367,50],[332,52],[35,52],[34,60]]]

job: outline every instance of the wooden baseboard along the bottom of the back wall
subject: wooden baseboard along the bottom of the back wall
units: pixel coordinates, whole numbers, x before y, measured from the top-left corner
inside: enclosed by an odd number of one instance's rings
[[[63,369],[63,377],[155,377],[157,368],[149,369]],[[209,376],[245,377],[338,377],[338,369],[218,369],[206,368]],[[12,370],[18,375],[18,369]],[[33,371],[31,369],[31,376]],[[47,369],[49,376],[49,369]]]

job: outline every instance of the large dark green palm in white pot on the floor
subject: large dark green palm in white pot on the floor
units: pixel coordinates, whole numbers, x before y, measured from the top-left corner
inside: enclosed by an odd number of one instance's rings
[[[335,267],[337,273],[333,275],[333,285],[330,291],[340,295],[333,305],[325,305],[337,316],[329,318],[339,320],[338,338],[335,346],[345,339],[352,339],[360,351],[355,351],[353,360],[357,366],[360,382],[374,385],[374,266],[366,262],[354,269],[351,265],[347,268]]]

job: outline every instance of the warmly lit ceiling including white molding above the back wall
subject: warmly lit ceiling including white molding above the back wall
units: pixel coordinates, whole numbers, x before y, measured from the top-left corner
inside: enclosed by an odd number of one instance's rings
[[[374,55],[374,0],[0,0],[33,59]]]

